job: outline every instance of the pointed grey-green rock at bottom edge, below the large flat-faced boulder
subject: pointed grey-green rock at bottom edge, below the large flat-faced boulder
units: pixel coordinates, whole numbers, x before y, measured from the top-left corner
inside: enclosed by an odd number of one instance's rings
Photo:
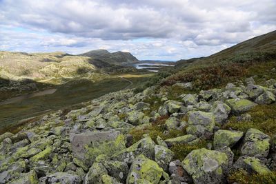
[[[84,179],[84,184],[94,184],[101,183],[101,176],[108,174],[108,170],[101,163],[93,163],[90,167],[86,178]]]

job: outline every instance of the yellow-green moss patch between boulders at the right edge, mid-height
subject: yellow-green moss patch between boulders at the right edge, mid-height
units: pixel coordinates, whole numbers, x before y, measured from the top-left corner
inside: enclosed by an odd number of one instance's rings
[[[257,105],[252,108],[248,114],[251,115],[251,121],[237,121],[237,116],[232,116],[229,122],[224,126],[233,130],[246,132],[249,128],[255,128],[272,136],[276,134],[276,104]]]

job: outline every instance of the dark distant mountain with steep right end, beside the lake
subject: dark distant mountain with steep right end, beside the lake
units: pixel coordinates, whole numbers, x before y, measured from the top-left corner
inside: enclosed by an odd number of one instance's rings
[[[97,59],[98,64],[99,61],[103,61],[103,63],[110,63],[112,65],[129,65],[132,63],[139,63],[139,60],[130,54],[130,52],[118,51],[110,53],[107,50],[91,50],[89,52],[79,54],[79,56]]]

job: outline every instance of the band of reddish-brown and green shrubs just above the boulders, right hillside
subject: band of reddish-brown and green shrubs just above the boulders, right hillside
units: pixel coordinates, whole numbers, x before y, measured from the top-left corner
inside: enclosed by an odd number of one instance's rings
[[[257,73],[248,68],[252,65],[266,65],[276,59],[275,50],[271,52],[248,52],[236,54],[232,57],[210,61],[209,63],[196,63],[193,68],[183,68],[176,74],[168,76],[161,85],[172,85],[177,82],[193,82],[195,90],[208,90],[221,87],[230,81],[241,79],[248,74],[266,74],[265,70]],[[193,70],[192,70],[193,69]]]

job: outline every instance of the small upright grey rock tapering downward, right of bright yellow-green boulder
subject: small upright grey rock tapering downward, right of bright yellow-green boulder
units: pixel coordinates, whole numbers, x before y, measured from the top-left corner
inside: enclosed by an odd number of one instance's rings
[[[162,145],[155,145],[155,161],[164,170],[168,171],[168,164],[172,161],[174,152]]]

